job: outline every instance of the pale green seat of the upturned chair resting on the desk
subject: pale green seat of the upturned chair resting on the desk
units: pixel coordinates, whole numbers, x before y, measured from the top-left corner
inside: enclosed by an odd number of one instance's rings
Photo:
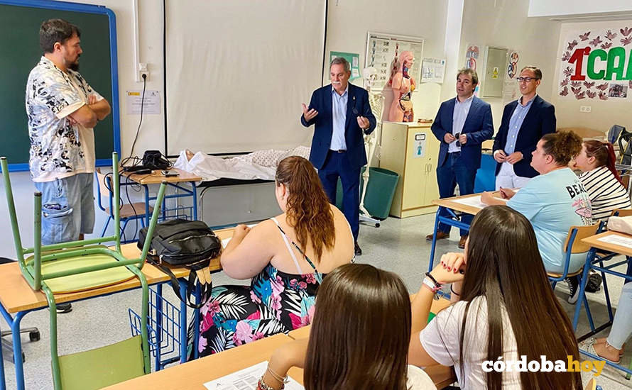
[[[95,254],[80,257],[70,257],[67,259],[52,260],[43,262],[42,274],[51,272],[62,272],[90,265],[106,264],[116,262],[114,257],[109,255]],[[55,294],[65,294],[76,291],[98,289],[99,287],[110,286],[124,282],[135,275],[127,267],[114,267],[101,269],[99,271],[87,272],[84,274],[68,275],[67,277],[57,277],[45,279],[44,283]]]

